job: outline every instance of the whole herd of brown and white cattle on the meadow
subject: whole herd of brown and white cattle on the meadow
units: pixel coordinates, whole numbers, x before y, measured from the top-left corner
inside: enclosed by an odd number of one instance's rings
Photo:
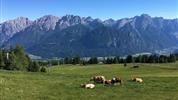
[[[95,84],[104,84],[104,85],[121,85],[123,84],[123,80],[119,77],[113,77],[111,80],[106,80],[104,76],[94,76],[90,79],[93,83],[81,84],[82,88],[93,89],[95,88]],[[142,78],[132,78],[131,81],[143,83]]]

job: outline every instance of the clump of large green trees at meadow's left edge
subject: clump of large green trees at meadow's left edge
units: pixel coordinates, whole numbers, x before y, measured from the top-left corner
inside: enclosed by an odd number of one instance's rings
[[[40,67],[38,62],[32,61],[20,45],[10,49],[0,49],[0,69],[30,72],[46,71],[45,68]]]

